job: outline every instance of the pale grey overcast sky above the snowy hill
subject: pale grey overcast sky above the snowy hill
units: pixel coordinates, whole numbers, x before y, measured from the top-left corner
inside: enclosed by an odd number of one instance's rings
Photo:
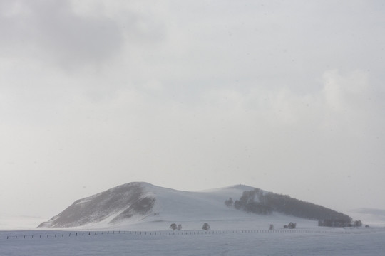
[[[385,1],[0,0],[0,214],[146,181],[385,208]]]

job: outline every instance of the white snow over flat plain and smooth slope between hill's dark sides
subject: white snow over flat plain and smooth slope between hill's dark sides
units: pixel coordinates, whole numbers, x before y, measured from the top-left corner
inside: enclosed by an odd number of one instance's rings
[[[383,211],[356,210],[370,228],[324,228],[317,221],[248,214],[225,206],[247,186],[188,192],[144,183],[157,201],[148,215],[66,229],[35,228],[41,218],[0,215],[0,255],[384,255]],[[369,221],[365,218],[370,217]],[[46,219],[44,219],[46,220]],[[202,230],[203,223],[211,230]],[[284,229],[289,222],[294,230]],[[173,232],[170,224],[183,226]],[[270,224],[274,230],[268,230]],[[109,230],[109,231],[107,231]]]

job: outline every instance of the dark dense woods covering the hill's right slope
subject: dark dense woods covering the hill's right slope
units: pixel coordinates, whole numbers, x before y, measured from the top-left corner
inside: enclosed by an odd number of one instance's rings
[[[343,213],[324,206],[315,205],[314,203],[291,198],[290,196],[266,193],[259,188],[243,192],[240,199],[234,201],[233,206],[237,210],[245,210],[248,213],[266,215],[275,211],[311,220],[339,220],[351,223],[351,218]]]

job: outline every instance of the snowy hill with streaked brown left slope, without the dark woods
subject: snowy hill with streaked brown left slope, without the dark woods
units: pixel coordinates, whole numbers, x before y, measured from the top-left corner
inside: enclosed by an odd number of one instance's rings
[[[228,186],[206,191],[178,191],[145,182],[126,183],[75,201],[38,228],[102,228],[138,223],[192,223],[203,221],[244,221],[274,216],[248,214],[225,205],[225,201],[241,198],[245,191],[257,188],[245,185]],[[263,193],[267,191],[259,190]],[[289,217],[292,218],[292,217]],[[155,224],[154,224],[155,225]]]

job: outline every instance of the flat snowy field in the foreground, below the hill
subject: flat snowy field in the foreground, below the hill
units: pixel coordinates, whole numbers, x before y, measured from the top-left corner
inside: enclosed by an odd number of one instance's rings
[[[71,235],[70,235],[71,234]],[[16,238],[17,235],[17,238]],[[26,236],[24,238],[24,235]],[[32,235],[34,237],[32,238]],[[47,237],[48,236],[48,237]],[[2,231],[0,255],[384,255],[384,228],[114,233]]]

